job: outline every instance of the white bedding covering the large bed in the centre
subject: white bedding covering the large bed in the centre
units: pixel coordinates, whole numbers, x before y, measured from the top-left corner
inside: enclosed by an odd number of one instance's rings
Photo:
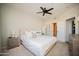
[[[34,55],[41,56],[46,55],[50,48],[56,43],[56,38],[50,36],[38,36],[36,38],[29,37],[25,35],[21,37],[22,44]]]

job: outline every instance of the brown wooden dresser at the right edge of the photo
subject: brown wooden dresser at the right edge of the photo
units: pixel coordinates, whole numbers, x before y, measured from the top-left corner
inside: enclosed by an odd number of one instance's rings
[[[79,56],[79,34],[70,35],[69,53],[71,56]]]

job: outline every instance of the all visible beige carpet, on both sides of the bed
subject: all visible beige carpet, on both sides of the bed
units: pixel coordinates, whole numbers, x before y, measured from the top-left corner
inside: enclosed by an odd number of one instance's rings
[[[10,49],[8,51],[9,56],[33,56],[27,49],[22,45],[19,47]],[[47,56],[68,56],[68,45],[66,43],[57,42],[56,45],[49,51]]]

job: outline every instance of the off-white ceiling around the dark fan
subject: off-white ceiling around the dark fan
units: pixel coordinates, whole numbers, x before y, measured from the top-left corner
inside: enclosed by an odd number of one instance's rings
[[[17,8],[19,11],[23,11],[24,13],[35,16],[41,19],[56,19],[58,16],[63,14],[66,10],[71,7],[75,7],[78,4],[73,3],[22,3],[22,4],[11,4],[11,7]],[[42,14],[37,14],[36,12],[40,12],[40,6],[46,7],[47,9],[54,8],[52,11],[52,15],[46,14],[42,16]]]

